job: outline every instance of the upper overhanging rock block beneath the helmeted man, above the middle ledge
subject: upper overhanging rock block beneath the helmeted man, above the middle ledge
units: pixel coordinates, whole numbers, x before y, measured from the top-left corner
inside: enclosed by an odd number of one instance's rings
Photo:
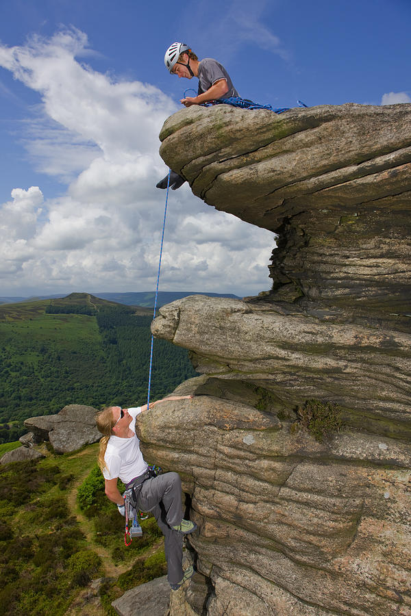
[[[275,290],[409,327],[411,105],[191,107],[160,139],[194,194],[280,234]]]

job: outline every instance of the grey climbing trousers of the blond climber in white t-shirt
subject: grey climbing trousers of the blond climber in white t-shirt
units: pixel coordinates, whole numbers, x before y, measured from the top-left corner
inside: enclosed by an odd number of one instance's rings
[[[182,483],[178,473],[164,473],[145,480],[136,493],[137,506],[141,511],[151,511],[164,535],[164,551],[167,561],[167,579],[177,584],[183,579],[183,536],[173,530],[183,519]]]

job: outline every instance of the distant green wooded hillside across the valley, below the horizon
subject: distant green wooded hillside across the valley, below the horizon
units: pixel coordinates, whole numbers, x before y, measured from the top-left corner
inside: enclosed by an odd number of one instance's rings
[[[147,309],[90,294],[1,305],[0,442],[67,404],[144,403],[151,320]],[[154,341],[151,399],[195,374],[186,350]]]

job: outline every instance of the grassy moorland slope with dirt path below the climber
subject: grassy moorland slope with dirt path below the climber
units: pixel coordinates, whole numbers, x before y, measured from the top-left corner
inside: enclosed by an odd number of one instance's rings
[[[44,448],[45,459],[0,467],[1,616],[114,615],[115,598],[166,572],[153,517],[125,547],[97,448],[62,456]]]

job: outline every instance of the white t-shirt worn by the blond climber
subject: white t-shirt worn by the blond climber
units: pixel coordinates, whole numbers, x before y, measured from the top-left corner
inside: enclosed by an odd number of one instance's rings
[[[110,436],[104,454],[105,468],[103,470],[105,479],[119,477],[125,484],[129,483],[134,477],[142,475],[148,466],[142,457],[140,441],[136,435],[136,417],[141,413],[141,408],[135,407],[127,410],[133,418],[129,427],[134,432],[134,436],[128,439]]]

